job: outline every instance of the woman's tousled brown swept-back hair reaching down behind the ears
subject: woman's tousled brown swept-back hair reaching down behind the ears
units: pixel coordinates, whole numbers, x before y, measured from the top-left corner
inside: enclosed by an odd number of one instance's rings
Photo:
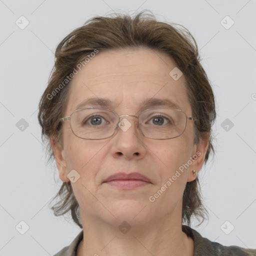
[[[41,137],[42,140],[46,139],[48,161],[54,160],[50,139],[62,146],[59,118],[62,117],[66,105],[68,75],[95,49],[100,52],[107,49],[141,46],[166,53],[185,75],[192,116],[198,119],[194,122],[194,143],[198,144],[200,138],[204,139],[204,135],[209,134],[204,164],[208,160],[209,153],[214,154],[211,136],[211,127],[216,118],[214,95],[200,64],[198,48],[193,36],[179,24],[156,21],[153,14],[142,11],[133,18],[127,14],[90,18],[58,44],[55,63],[48,85],[40,98],[38,113]],[[63,84],[64,80],[66,84]],[[62,86],[59,86],[60,84]],[[58,201],[51,207],[54,214],[58,216],[70,211],[73,221],[82,227],[79,205],[70,182],[61,185],[53,199],[56,198]],[[196,218],[201,217],[202,223],[204,214],[207,215],[207,210],[202,204],[197,177],[186,183],[182,201],[182,222],[190,225],[191,216],[194,215]]]

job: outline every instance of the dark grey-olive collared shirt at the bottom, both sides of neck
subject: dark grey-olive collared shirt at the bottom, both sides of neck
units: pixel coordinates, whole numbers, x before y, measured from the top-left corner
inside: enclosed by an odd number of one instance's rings
[[[256,249],[245,249],[235,245],[224,246],[202,237],[190,226],[182,225],[182,231],[194,241],[193,256],[256,256]],[[53,256],[76,256],[79,242],[82,240],[83,230],[74,238],[69,246],[64,247]]]

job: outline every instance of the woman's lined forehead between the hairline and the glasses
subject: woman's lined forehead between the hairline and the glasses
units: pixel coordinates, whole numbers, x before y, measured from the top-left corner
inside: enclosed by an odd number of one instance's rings
[[[174,80],[169,75],[175,67],[168,55],[152,49],[99,52],[72,78],[66,112],[89,106],[85,101],[100,103],[101,98],[107,99],[101,103],[108,103],[106,107],[112,110],[126,108],[136,112],[147,99],[151,99],[152,106],[160,103],[152,99],[163,99],[165,103],[172,102],[172,107],[189,111],[184,76]],[[88,100],[91,98],[94,100]]]

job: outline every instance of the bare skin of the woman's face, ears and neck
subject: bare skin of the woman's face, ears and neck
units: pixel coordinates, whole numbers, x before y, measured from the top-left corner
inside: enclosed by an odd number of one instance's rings
[[[137,114],[144,98],[167,97],[191,116],[184,75],[176,81],[169,75],[175,66],[165,53],[151,49],[99,52],[72,79],[64,116],[95,95],[118,104],[110,109],[119,115]],[[179,137],[158,140],[144,137],[134,125],[136,118],[126,118],[132,124],[127,131],[118,128],[112,137],[100,140],[75,136],[67,120],[62,123],[63,147],[51,140],[60,179],[68,182],[72,169],[80,175],[71,183],[84,227],[77,255],[193,255],[193,240],[181,230],[182,195],[186,182],[196,178],[192,170],[201,169],[208,143],[193,143],[191,120]],[[150,202],[149,196],[196,151],[201,155]],[[102,184],[119,171],[139,172],[152,183],[131,190]],[[127,233],[118,229],[123,221],[131,226]]]

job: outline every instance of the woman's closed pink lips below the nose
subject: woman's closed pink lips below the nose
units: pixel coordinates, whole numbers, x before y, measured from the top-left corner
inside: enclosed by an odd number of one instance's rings
[[[113,175],[110,175],[102,183],[123,189],[131,189],[152,184],[149,178],[138,172],[132,172],[129,174],[125,172],[117,172]]]

